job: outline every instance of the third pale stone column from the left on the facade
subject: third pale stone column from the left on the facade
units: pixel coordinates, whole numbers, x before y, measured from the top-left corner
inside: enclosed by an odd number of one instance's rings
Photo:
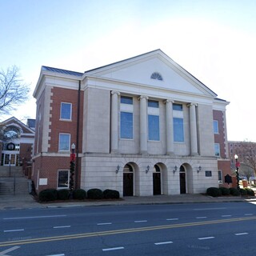
[[[173,103],[174,101],[166,99],[166,154],[174,154],[174,117]]]

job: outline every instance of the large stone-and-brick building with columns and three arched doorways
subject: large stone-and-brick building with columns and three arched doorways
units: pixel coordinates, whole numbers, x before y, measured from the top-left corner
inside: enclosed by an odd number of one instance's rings
[[[205,192],[230,174],[226,105],[162,52],[78,73],[42,66],[36,190],[75,186],[122,196]]]

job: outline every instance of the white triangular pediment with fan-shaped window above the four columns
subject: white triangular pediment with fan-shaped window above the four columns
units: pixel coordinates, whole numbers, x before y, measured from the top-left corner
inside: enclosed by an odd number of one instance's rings
[[[129,82],[154,88],[216,98],[212,90],[171,58],[154,50],[121,62],[86,71],[85,76]]]

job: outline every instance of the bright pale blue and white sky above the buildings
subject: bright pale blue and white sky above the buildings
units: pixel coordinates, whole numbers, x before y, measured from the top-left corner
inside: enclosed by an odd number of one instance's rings
[[[255,14],[254,0],[0,0],[0,68],[31,84],[12,115],[35,118],[43,65],[83,72],[160,48],[230,102],[229,140],[256,142]]]

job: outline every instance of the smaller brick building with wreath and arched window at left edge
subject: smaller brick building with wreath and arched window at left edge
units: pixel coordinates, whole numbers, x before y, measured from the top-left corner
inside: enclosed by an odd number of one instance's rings
[[[1,122],[1,166],[23,166],[25,172],[32,165],[34,122],[29,120],[27,125],[14,117]],[[4,168],[0,167],[0,176],[1,170]]]

